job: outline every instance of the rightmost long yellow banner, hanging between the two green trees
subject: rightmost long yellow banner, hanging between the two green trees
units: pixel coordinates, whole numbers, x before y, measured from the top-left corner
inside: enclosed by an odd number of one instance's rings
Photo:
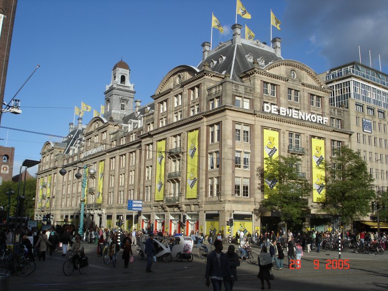
[[[312,201],[325,202],[326,190],[324,185],[324,169],[317,168],[324,162],[324,140],[311,139],[312,153]]]

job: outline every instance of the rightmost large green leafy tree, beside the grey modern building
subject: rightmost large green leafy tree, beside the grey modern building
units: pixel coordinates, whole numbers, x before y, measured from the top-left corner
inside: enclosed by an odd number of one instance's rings
[[[318,168],[325,170],[326,199],[321,211],[339,216],[346,224],[370,213],[375,198],[374,179],[358,152],[342,146],[333,151],[329,162]]]

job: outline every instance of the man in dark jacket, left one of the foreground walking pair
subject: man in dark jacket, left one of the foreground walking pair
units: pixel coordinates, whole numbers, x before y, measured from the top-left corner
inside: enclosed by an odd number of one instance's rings
[[[230,274],[229,261],[226,254],[222,252],[222,241],[216,240],[214,242],[215,250],[208,255],[206,264],[206,286],[213,285],[213,290],[221,290],[222,282],[224,282],[225,290],[231,290],[234,277]]]

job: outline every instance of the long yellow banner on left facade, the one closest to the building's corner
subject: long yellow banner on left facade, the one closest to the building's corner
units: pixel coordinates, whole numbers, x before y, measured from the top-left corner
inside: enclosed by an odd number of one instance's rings
[[[186,180],[186,198],[196,198],[198,184],[198,129],[187,134]]]

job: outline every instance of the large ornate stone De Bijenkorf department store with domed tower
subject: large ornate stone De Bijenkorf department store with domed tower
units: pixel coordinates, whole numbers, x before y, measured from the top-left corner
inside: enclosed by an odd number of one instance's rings
[[[275,213],[258,211],[264,158],[298,155],[300,175],[317,184],[314,155],[328,157],[333,141],[348,144],[352,132],[344,122],[331,126],[342,110],[330,106],[331,89],[307,65],[284,60],[281,39],[271,48],[241,39],[241,28],[233,25],[233,39],[211,51],[203,43],[197,67],[171,69],[147,105],[134,99],[129,66],[117,63],[104,115],[87,125],[79,118],[62,143],[43,146],[35,218],[51,206],[54,223],[78,224],[82,179],[75,174],[86,165],[97,172],[87,178],[86,225],[114,227],[122,217],[125,229],[225,234],[232,217],[232,233],[277,229]],[[317,214],[317,191],[305,229],[328,222]],[[128,200],[141,200],[142,210],[127,210]]]

